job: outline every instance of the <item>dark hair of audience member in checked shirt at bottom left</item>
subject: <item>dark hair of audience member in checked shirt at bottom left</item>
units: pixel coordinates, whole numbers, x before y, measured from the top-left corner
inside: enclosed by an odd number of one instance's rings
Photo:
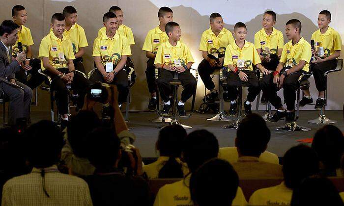
[[[27,129],[26,135],[28,160],[33,167],[45,168],[57,163],[64,141],[55,123],[39,121]]]

